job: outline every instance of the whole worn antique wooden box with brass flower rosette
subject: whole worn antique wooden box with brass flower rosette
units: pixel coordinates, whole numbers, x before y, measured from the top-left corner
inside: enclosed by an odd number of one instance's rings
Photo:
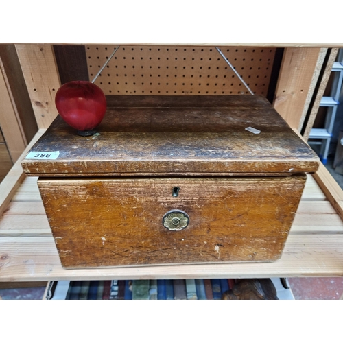
[[[22,165],[64,268],[99,268],[279,259],[318,157],[263,97],[119,96]]]

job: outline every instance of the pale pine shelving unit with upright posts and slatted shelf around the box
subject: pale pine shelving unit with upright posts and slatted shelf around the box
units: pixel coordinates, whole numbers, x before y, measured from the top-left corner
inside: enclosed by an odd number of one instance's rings
[[[17,49],[24,76],[31,72],[32,57],[27,57],[25,61],[23,56],[31,56],[34,49],[39,51],[40,45]],[[51,47],[44,45],[44,49],[47,51]],[[274,106],[295,130],[300,130],[303,125],[303,113],[308,107],[310,95],[313,95],[313,84],[318,80],[316,66],[323,49],[327,48],[320,47],[320,44],[285,49]],[[49,51],[52,54],[52,50]],[[36,75],[32,80],[38,80],[42,72],[37,65],[35,68]],[[46,64],[44,68],[47,68]],[[303,68],[301,75],[311,73],[311,77],[307,75],[307,80],[303,80],[305,84],[296,78],[299,68]],[[46,84],[42,87],[56,90],[56,67],[53,74],[51,76],[49,69],[44,81]],[[54,86],[49,85],[49,78]],[[49,109],[52,106],[49,102],[43,108],[37,105],[38,99],[42,100],[45,95],[37,95],[40,88],[36,84],[27,85],[27,88],[32,102],[36,104],[34,112],[40,128],[33,143],[49,126],[47,117],[54,119],[56,113]],[[296,89],[298,93],[294,93]],[[23,175],[20,165],[23,156],[25,152],[0,185],[0,281],[343,276],[343,191],[322,165],[316,174],[308,176],[279,261],[65,270],[60,265],[36,178],[25,178]]]

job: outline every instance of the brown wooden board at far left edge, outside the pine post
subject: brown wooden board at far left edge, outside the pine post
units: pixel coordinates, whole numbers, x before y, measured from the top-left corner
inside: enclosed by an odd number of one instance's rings
[[[27,145],[27,141],[21,130],[20,121],[16,115],[8,86],[3,75],[2,62],[0,58],[0,127],[5,138],[8,151],[14,163]]]

